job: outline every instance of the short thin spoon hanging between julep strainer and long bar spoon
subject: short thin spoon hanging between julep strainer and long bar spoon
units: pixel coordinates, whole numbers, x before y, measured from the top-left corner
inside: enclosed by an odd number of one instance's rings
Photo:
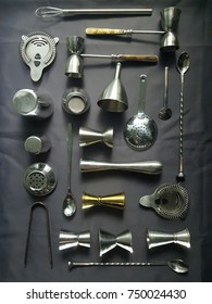
[[[172,117],[172,110],[169,107],[169,66],[165,66],[164,83],[163,107],[159,112],[159,118],[167,121]]]

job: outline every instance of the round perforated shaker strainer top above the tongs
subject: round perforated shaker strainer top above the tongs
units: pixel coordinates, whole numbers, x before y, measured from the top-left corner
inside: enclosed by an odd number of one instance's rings
[[[24,174],[25,189],[36,197],[43,197],[51,193],[57,186],[57,177],[50,165],[35,163]]]

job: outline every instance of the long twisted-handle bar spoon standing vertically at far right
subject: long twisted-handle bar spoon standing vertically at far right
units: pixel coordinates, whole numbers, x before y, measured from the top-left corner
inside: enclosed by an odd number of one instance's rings
[[[183,135],[184,135],[184,74],[190,66],[190,59],[188,53],[183,52],[177,60],[176,68],[180,74],[182,88],[179,94],[179,170],[177,180],[183,181],[184,175],[184,160],[183,160]]]

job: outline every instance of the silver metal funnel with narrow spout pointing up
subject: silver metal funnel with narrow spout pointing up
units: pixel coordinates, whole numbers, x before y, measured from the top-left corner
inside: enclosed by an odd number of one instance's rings
[[[108,112],[124,112],[128,109],[126,91],[120,80],[122,64],[116,63],[115,76],[105,87],[97,104]]]

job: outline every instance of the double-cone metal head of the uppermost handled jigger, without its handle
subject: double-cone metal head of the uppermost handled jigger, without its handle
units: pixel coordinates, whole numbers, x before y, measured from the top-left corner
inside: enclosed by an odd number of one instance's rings
[[[161,11],[161,26],[165,34],[161,39],[161,51],[176,51],[179,48],[178,39],[175,34],[180,10],[178,8],[170,7]]]

